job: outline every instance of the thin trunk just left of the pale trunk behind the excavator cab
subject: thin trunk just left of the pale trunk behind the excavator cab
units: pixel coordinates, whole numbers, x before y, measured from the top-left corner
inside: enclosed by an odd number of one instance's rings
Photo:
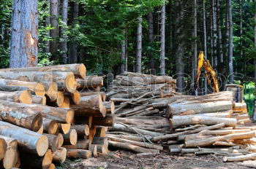
[[[218,47],[219,47],[219,63],[223,63],[223,50],[222,50],[222,28],[221,28],[221,20],[220,20],[220,2],[217,0],[217,30],[218,30]]]

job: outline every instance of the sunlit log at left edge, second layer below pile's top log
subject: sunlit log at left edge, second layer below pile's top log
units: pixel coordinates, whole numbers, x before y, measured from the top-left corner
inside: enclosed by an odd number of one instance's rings
[[[45,87],[40,82],[24,82],[11,79],[0,79],[0,89],[8,92],[29,90],[34,92],[35,95],[45,95]]]

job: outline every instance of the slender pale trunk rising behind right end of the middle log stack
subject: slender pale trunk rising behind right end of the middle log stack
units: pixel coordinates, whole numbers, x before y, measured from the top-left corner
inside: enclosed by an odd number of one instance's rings
[[[165,0],[163,0],[161,10],[160,74],[165,75]]]

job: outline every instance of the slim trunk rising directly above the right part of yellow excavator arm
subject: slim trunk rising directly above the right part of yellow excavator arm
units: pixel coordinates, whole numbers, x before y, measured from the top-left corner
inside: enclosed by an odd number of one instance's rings
[[[211,1],[211,5],[212,5],[212,20],[213,20],[213,59],[214,59],[214,63],[213,66],[214,68],[217,67],[217,12],[216,12],[216,1],[212,0]]]

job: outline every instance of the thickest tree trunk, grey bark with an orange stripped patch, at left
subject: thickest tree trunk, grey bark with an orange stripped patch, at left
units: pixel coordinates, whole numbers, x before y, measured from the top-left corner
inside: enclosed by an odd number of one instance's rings
[[[13,1],[10,48],[10,68],[37,66],[37,0]]]

